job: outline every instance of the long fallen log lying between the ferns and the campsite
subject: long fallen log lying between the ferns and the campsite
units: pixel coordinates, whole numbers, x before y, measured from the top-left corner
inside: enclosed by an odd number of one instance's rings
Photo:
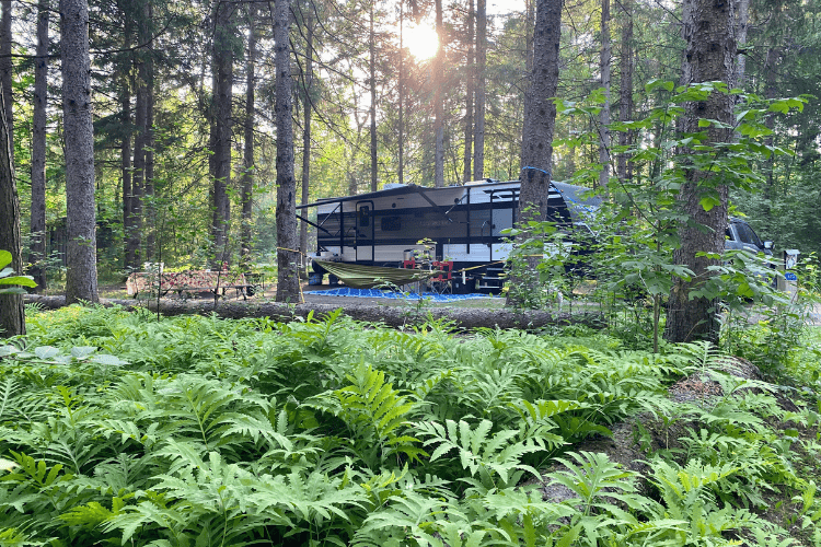
[[[66,305],[65,296],[42,296],[27,294],[26,304],[35,304],[45,310],[57,310]],[[122,306],[126,310],[138,307],[157,313],[157,300],[117,300],[100,299],[103,306]],[[598,313],[552,313],[546,311],[509,311],[489,309],[460,309],[460,307],[428,307],[417,311],[407,307],[385,305],[361,305],[349,304],[282,304],[273,302],[241,302],[212,300],[167,300],[161,299],[159,312],[165,316],[174,315],[211,315],[227,319],[239,319],[243,317],[270,317],[274,321],[289,322],[296,318],[304,319],[313,312],[313,316],[321,318],[329,312],[343,309],[348,317],[366,323],[378,323],[389,327],[403,327],[419,325],[427,321],[443,319],[453,322],[460,329],[470,330],[474,328],[520,328],[536,329],[555,325],[587,325],[600,328],[604,325],[601,314]]]

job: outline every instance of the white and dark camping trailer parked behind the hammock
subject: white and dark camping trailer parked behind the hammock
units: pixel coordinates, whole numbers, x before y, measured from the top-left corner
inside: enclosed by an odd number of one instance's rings
[[[511,252],[502,231],[519,214],[519,181],[478,181],[461,186],[430,188],[386,185],[384,189],[300,206],[316,208],[316,222],[299,218],[316,230],[312,256],[361,266],[403,267],[415,254],[452,261],[454,291],[498,292],[504,263]],[[582,198],[589,188],[551,183],[551,220],[573,228],[586,225],[588,213],[601,199]],[[465,270],[462,272],[462,270]],[[314,266],[314,270],[322,267]],[[324,271],[319,271],[323,274]]]

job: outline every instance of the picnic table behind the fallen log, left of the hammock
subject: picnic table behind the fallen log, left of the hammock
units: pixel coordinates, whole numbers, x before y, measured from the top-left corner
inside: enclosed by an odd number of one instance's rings
[[[236,290],[236,295],[243,299],[253,294],[253,284],[248,284],[244,274],[232,271],[136,271],[128,276],[126,290],[129,296],[137,298],[140,292],[154,293],[159,289],[160,296],[176,292],[180,296],[190,296],[198,292],[220,292],[226,295],[229,289]]]

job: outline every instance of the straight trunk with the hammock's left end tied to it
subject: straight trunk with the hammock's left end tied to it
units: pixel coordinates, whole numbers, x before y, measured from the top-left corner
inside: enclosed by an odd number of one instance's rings
[[[293,126],[291,120],[291,0],[276,0],[277,123],[277,302],[299,299],[299,245],[297,237],[297,183],[293,176]]]

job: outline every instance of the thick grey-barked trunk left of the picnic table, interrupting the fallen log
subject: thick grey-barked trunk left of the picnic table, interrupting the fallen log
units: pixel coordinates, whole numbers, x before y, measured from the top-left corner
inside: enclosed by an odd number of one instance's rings
[[[60,0],[60,36],[68,220],[66,302],[99,302],[88,0]]]

